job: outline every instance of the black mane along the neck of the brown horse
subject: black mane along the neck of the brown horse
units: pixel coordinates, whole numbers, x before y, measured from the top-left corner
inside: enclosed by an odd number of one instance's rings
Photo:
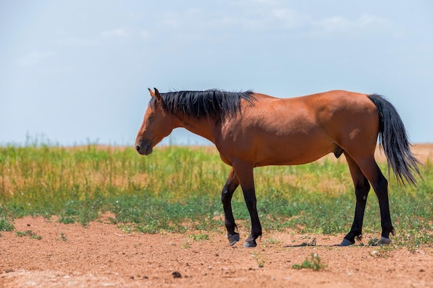
[[[174,91],[160,93],[164,108],[174,115],[187,115],[194,119],[203,117],[234,117],[241,112],[241,100],[253,104],[252,90],[228,92],[219,89],[205,91]],[[152,97],[150,105],[154,106]]]

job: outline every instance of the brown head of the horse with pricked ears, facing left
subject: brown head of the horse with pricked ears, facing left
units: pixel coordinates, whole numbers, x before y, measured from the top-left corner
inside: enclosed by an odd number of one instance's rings
[[[165,111],[163,98],[154,89],[149,89],[151,100],[136,139],[136,150],[141,155],[152,153],[154,146],[173,130],[172,115]]]

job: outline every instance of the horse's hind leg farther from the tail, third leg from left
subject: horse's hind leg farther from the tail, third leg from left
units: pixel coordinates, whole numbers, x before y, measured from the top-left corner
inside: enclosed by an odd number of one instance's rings
[[[355,238],[360,238],[362,236],[362,222],[364,221],[365,204],[367,203],[367,196],[370,191],[370,184],[358,164],[356,164],[349,154],[344,153],[344,155],[346,156],[347,164],[349,164],[350,174],[353,180],[353,185],[355,186],[356,207],[352,227],[349,233],[344,236],[340,246],[354,244]]]

